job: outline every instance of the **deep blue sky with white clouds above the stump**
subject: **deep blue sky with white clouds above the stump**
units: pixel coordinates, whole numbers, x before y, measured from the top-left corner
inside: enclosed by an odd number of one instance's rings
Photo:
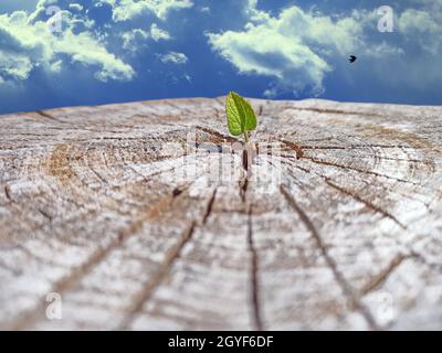
[[[1,0],[0,114],[229,90],[442,105],[441,57],[442,0]]]

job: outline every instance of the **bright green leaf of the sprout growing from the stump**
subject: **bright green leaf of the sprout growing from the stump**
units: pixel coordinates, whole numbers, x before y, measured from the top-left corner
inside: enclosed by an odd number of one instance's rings
[[[239,136],[245,131],[256,129],[256,116],[253,108],[239,94],[231,92],[225,101],[229,131]]]

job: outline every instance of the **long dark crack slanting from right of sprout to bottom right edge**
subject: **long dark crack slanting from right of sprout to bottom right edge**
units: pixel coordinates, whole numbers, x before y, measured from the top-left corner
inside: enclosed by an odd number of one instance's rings
[[[285,200],[287,201],[288,205],[294,211],[296,211],[296,213],[299,215],[301,221],[304,223],[304,225],[306,226],[306,228],[308,229],[308,232],[312,234],[313,238],[315,239],[317,247],[319,248],[324,259],[327,263],[327,266],[330,268],[337,284],[339,285],[344,295],[346,296],[349,307],[356,308],[362,314],[362,317],[366,319],[366,321],[369,324],[371,330],[379,330],[379,325],[377,324],[375,318],[371,315],[369,310],[360,302],[360,300],[356,296],[351,286],[347,282],[344,275],[338,270],[337,264],[335,263],[333,257],[328,254],[327,247],[325,246],[323,238],[319,235],[319,232],[316,229],[316,227],[314,226],[311,218],[301,208],[301,206],[296,203],[295,199],[286,190],[285,185],[281,185],[280,190],[281,190],[281,193],[283,194],[283,196],[285,197]]]

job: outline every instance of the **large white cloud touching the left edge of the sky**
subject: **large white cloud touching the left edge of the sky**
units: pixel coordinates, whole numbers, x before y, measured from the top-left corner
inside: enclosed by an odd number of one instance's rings
[[[3,78],[27,79],[33,69],[57,73],[62,63],[78,63],[92,66],[94,76],[101,81],[128,81],[135,76],[130,65],[109,53],[92,32],[74,33],[82,22],[69,11],[63,11],[63,31],[52,33],[41,18],[45,13],[40,1],[36,10],[29,14],[15,11],[0,15],[0,74]],[[90,24],[85,23],[87,29]]]

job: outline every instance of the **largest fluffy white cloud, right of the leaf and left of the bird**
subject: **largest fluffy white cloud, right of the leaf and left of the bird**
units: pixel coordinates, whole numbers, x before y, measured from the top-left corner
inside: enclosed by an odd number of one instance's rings
[[[332,19],[296,6],[272,17],[250,0],[246,13],[250,22],[243,31],[209,34],[212,49],[240,73],[274,77],[282,89],[295,93],[307,87],[323,93],[324,77],[333,69],[327,57],[354,51],[362,32],[351,17]]]

